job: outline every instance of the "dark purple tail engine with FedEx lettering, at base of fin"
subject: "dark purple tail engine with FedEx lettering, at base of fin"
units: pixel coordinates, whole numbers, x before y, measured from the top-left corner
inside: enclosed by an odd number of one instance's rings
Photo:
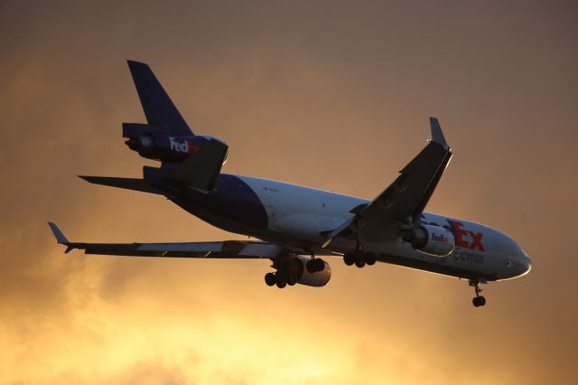
[[[171,135],[166,127],[140,123],[123,123],[123,137],[126,146],[147,159],[160,162],[181,163],[210,139],[221,139],[214,136],[177,136]],[[227,156],[223,164],[227,162]]]

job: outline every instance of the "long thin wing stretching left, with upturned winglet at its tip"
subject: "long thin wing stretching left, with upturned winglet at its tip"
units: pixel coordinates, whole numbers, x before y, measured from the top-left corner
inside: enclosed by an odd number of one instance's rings
[[[70,242],[55,223],[48,222],[58,243],[66,246],[66,253],[82,249],[85,254],[165,257],[165,258],[276,258],[283,248],[250,240],[180,243],[83,243]]]

